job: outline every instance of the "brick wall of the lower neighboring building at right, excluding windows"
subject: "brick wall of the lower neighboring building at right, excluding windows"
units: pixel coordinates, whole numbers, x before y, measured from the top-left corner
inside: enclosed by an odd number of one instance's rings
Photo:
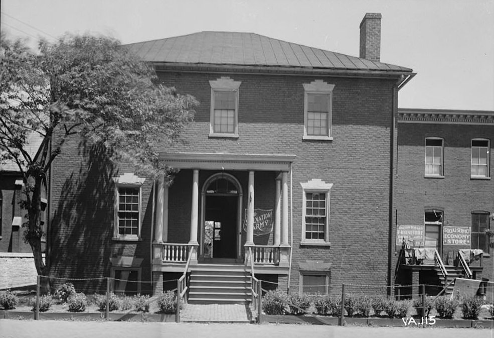
[[[470,179],[471,139],[491,139],[492,135],[493,126],[400,123],[395,190],[397,223],[424,224],[424,211],[435,208],[443,211],[445,227],[470,227],[472,211],[492,212],[494,182]],[[444,178],[424,177],[426,137],[444,139]],[[490,147],[492,173],[492,139]],[[490,219],[491,229],[493,226],[494,221]],[[396,241],[395,235],[393,240]],[[465,247],[443,246],[443,261],[446,263],[449,251],[460,248]],[[492,257],[484,257],[482,277],[494,279],[492,263]]]

